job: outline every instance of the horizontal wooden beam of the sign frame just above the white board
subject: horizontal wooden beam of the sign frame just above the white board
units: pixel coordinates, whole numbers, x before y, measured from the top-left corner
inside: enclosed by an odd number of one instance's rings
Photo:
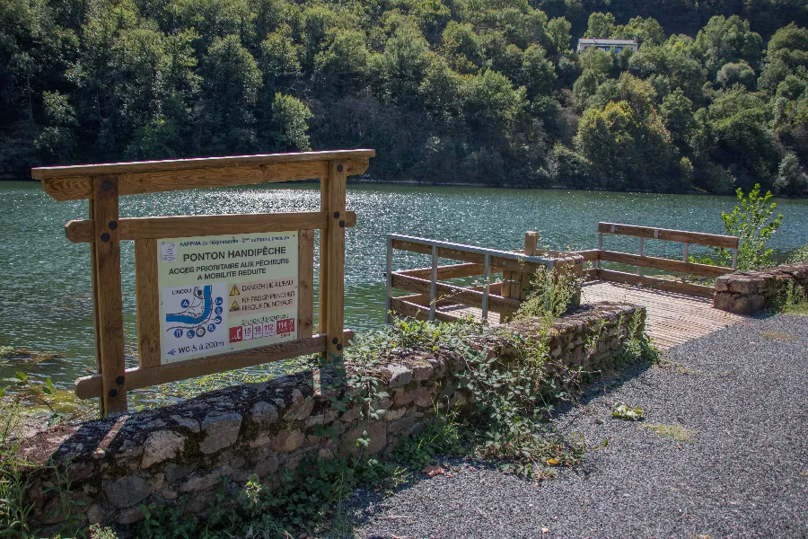
[[[356,226],[356,212],[345,212],[345,225]],[[119,219],[121,240],[149,240],[187,237],[192,227],[209,228],[193,235],[251,234],[286,232],[288,230],[325,229],[329,214],[324,211],[286,212],[272,214],[223,214],[214,216],[124,217]],[[288,221],[294,225],[288,225]],[[70,243],[92,242],[95,222],[92,219],[68,221],[65,236]]]

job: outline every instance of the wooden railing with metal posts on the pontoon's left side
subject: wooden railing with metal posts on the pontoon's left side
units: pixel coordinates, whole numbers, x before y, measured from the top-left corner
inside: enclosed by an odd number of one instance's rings
[[[397,250],[430,255],[432,266],[393,271],[393,252]],[[442,258],[464,263],[439,266],[438,259]],[[504,294],[504,287],[510,287],[510,283],[492,282],[493,275],[516,272],[530,276],[540,268],[551,270],[553,265],[554,261],[544,256],[388,234],[386,310],[388,314],[409,316],[419,320],[452,322],[460,317],[441,312],[438,306],[466,305],[479,308],[483,320],[488,319],[489,311],[500,314],[502,319],[503,316],[513,315],[518,311],[522,301],[518,296],[514,298]],[[439,282],[476,276],[482,278],[482,284],[479,286],[461,287]],[[393,297],[393,288],[413,294]]]

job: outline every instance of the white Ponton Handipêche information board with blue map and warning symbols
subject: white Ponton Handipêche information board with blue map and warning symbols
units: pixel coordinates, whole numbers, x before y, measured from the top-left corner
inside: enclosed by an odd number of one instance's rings
[[[158,241],[162,363],[294,340],[297,234]]]

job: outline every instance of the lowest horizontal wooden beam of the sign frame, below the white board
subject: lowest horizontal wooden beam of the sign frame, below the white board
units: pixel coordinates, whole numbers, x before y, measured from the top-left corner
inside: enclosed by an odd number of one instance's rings
[[[350,345],[349,341],[353,337],[354,331],[343,332],[346,346]],[[213,375],[238,368],[255,367],[264,363],[307,356],[323,352],[325,349],[326,336],[320,333],[311,339],[290,340],[256,349],[237,350],[206,358],[168,363],[158,367],[127,368],[126,384],[129,390],[143,389],[151,385],[168,384],[197,376]],[[101,375],[83,376],[75,381],[75,395],[79,399],[99,397],[101,391]]]

